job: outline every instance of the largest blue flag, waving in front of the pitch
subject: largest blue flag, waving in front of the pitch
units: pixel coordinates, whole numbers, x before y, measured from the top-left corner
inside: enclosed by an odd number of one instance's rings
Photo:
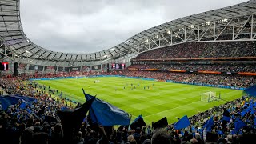
[[[94,96],[86,94],[83,89],[82,91],[86,97],[86,101],[94,98]],[[102,126],[127,126],[130,124],[130,117],[128,113],[98,98],[95,98],[92,103],[89,114],[93,122],[98,122],[98,124]]]

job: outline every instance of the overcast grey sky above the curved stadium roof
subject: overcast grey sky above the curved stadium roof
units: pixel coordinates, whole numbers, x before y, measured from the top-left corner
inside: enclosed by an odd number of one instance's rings
[[[25,34],[43,48],[106,50],[164,22],[247,0],[21,0]]]

